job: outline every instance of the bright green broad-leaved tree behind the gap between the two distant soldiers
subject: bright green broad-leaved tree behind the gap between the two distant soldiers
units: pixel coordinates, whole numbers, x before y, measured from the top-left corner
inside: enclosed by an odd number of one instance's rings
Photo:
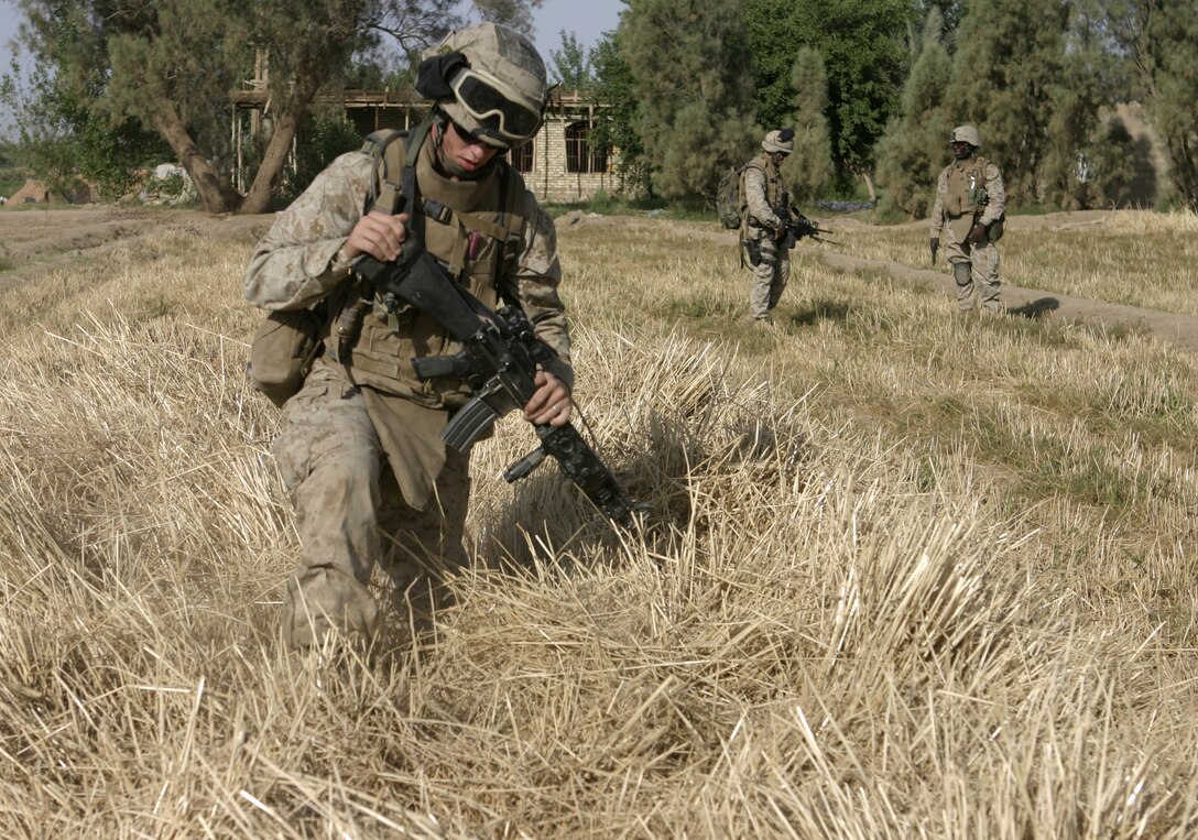
[[[907,75],[910,0],[744,0],[745,30],[757,72],[757,119],[780,125],[789,115],[791,68],[811,47],[828,72],[828,120],[841,176],[869,181],[873,147],[897,110]]]

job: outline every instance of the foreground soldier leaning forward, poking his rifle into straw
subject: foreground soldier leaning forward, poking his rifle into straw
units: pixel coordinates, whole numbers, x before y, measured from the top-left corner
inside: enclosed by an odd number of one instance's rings
[[[425,247],[459,283],[491,307],[501,292],[519,301],[557,351],[537,374],[525,418],[562,425],[570,417],[553,223],[501,159],[540,126],[545,65],[524,36],[483,24],[450,32],[430,52],[417,89],[435,103],[417,155],[422,212],[368,212],[375,163],[364,152],[343,155],[278,214],[246,271],[246,297],[264,309],[327,300],[333,336],[339,313],[368,298],[356,343],[326,340],[325,356],[285,404],[274,441],[302,543],[284,618],[295,647],[374,631],[379,606],[368,585],[376,562],[397,603],[418,618],[467,562],[470,458],[447,449],[440,433],[470,389],[452,376],[420,381],[411,363],[461,348],[424,313],[388,310],[373,290],[363,294],[350,270],[355,258],[394,260],[405,223],[420,225]]]

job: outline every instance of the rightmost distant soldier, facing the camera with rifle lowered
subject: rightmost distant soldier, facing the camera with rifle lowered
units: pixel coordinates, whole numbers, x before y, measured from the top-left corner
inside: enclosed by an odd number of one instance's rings
[[[961,312],[973,310],[975,291],[982,309],[1002,312],[998,240],[1006,207],[1003,175],[992,161],[978,155],[981,135],[973,126],[954,128],[949,143],[955,159],[936,185],[928,242],[932,261],[943,238]]]

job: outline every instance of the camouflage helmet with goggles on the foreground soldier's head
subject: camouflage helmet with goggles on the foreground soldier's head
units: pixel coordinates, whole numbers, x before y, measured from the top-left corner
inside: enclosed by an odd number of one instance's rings
[[[416,91],[472,137],[498,149],[527,143],[545,116],[545,61],[532,41],[484,23],[458,29],[424,55]]]

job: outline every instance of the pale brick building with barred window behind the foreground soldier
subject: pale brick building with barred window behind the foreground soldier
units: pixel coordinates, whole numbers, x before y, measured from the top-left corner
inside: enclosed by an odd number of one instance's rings
[[[247,90],[234,93],[232,104],[232,139],[241,149],[244,132],[262,129],[268,99],[262,90]],[[428,109],[428,102],[411,90],[346,90],[341,104],[346,119],[363,137],[380,128],[411,128]],[[577,91],[551,93],[540,132],[512,152],[513,165],[539,200],[586,201],[600,191],[610,195],[629,191],[631,185],[625,185],[617,170],[618,151],[604,149],[593,139],[594,126],[605,110]]]

